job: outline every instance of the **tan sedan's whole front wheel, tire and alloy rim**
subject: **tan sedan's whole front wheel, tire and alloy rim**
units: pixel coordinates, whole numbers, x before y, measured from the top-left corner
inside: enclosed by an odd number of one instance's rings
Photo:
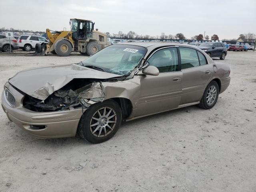
[[[122,120],[120,106],[113,100],[90,106],[81,117],[78,134],[91,143],[101,143],[116,134]]]

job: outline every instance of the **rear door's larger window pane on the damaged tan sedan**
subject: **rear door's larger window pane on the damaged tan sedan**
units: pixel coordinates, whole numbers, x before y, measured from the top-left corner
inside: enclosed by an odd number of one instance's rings
[[[195,49],[180,47],[181,69],[200,66]]]

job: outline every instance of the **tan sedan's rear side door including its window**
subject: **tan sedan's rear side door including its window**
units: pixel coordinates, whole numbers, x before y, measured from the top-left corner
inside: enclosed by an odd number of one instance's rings
[[[188,47],[180,47],[179,50],[183,74],[180,104],[198,102],[213,73],[213,67],[200,51]]]

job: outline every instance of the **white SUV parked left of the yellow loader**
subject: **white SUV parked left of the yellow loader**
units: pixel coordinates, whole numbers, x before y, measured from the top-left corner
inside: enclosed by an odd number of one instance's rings
[[[24,51],[31,51],[36,47],[37,43],[48,43],[43,37],[34,36],[34,35],[22,35],[18,38],[19,48],[23,49]]]

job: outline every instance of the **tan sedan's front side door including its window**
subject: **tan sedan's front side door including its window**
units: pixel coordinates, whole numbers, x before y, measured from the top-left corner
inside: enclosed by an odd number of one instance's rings
[[[140,75],[140,98],[134,116],[154,114],[178,108],[181,99],[182,72],[178,48],[160,48],[148,59],[159,70],[158,76]]]

